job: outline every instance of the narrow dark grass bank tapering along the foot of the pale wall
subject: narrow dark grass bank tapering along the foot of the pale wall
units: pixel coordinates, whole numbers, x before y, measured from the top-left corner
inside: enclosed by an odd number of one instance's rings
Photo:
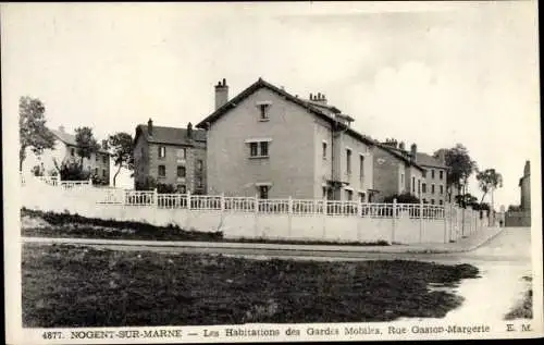
[[[202,241],[295,245],[341,245],[341,246],[388,246],[386,241],[375,242],[327,242],[271,238],[225,238],[222,232],[199,232],[183,230],[177,225],[156,226],[132,221],[86,218],[79,214],[44,212],[21,209],[22,236],[26,237],[73,237],[140,241]]]

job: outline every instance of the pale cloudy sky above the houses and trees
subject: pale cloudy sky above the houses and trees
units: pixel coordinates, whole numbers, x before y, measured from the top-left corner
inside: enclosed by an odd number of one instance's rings
[[[432,153],[465,145],[502,173],[495,205],[540,176],[535,1],[2,4],[4,128],[21,96],[49,126],[98,139],[137,124],[186,126],[259,77],[326,95],[372,138]],[[534,181],[534,177],[533,177]],[[469,192],[481,197],[474,178]],[[486,199],[489,201],[489,199]]]

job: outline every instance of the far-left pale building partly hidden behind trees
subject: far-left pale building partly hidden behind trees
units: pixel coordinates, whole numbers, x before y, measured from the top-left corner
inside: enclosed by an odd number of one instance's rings
[[[63,126],[58,130],[49,128],[54,136],[53,149],[44,150],[39,156],[28,150],[24,161],[23,172],[39,172],[41,175],[58,175],[63,163],[81,162],[77,155],[77,143],[75,135],[66,133]],[[108,151],[107,140],[102,140],[97,152],[90,155],[90,158],[83,159],[83,170],[97,176],[109,185],[110,182],[110,153]]]

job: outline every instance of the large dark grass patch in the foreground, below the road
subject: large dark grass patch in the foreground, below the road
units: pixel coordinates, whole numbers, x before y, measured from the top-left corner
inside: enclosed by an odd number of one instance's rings
[[[24,244],[25,328],[364,322],[442,318],[462,299],[431,285],[469,264],[250,260]]]

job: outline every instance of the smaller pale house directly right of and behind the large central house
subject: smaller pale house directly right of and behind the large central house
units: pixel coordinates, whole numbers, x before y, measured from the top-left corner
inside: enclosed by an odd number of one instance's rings
[[[408,153],[403,143],[400,148],[395,140],[376,144],[373,150],[376,201],[400,194],[421,199],[424,169],[413,159],[416,153],[416,145]]]

